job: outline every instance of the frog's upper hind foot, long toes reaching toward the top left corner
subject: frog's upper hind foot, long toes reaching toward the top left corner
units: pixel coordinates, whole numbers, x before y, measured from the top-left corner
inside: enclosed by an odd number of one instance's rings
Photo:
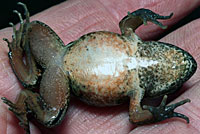
[[[15,26],[10,23],[13,27],[12,41],[9,42],[8,39],[5,38],[4,40],[8,43],[8,56],[15,75],[24,87],[31,87],[36,85],[40,71],[30,52],[29,40],[27,37],[28,26],[30,24],[29,12],[25,4],[20,2],[18,4],[22,5],[25,9],[26,21],[24,22],[21,14],[14,10],[13,12],[19,16],[20,27],[16,30]]]

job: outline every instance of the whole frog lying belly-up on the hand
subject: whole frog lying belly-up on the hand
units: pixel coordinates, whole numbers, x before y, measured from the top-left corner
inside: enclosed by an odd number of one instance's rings
[[[94,106],[115,106],[129,102],[129,120],[136,125],[156,123],[178,117],[189,118],[174,110],[190,99],[167,104],[169,94],[179,90],[197,69],[185,50],[164,42],[143,41],[135,33],[142,24],[152,22],[162,29],[161,16],[141,8],[122,18],[121,34],[95,31],[65,45],[45,23],[30,21],[24,3],[25,20],[17,10],[19,29],[13,23],[12,41],[7,42],[10,65],[24,87],[16,102],[2,97],[30,134],[28,115],[46,127],[65,118],[70,96]],[[159,106],[143,105],[143,99],[163,97]]]

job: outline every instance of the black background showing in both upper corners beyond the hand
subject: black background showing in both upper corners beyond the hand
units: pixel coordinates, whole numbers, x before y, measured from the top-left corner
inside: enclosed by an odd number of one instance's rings
[[[19,18],[16,14],[13,14],[13,10],[17,9],[19,12],[24,12],[21,6],[17,5],[19,0],[2,0],[0,4],[0,29],[8,27],[9,22],[14,24],[19,22]],[[20,0],[25,3],[29,9],[30,15],[34,15],[41,12],[53,5],[59,4],[66,0]],[[172,29],[174,30],[194,19],[200,18],[200,7],[194,10],[191,14],[178,22]]]

